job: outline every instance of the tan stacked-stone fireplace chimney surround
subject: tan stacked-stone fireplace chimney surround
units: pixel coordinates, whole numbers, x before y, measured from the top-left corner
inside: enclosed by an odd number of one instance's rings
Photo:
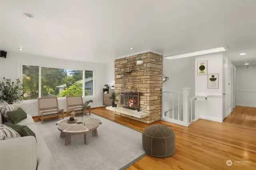
[[[138,61],[139,58],[142,59],[143,64],[137,65],[136,61]],[[116,59],[114,66],[114,91],[119,95],[118,98],[120,99],[118,106],[133,108],[132,106],[137,106],[138,103],[141,111],[148,116],[138,118],[122,113],[120,113],[120,115],[145,123],[160,120],[163,56],[152,52],[141,53]],[[120,78],[116,77],[118,73],[121,74]],[[134,96],[132,98],[129,97],[129,94],[135,93],[138,94],[138,101],[136,103],[134,103]],[[124,94],[127,95],[122,96]]]

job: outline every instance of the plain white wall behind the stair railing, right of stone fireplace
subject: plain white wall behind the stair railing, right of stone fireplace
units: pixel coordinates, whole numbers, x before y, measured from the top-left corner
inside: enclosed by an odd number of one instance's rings
[[[164,75],[169,77],[163,83],[164,90],[182,92],[182,88],[190,88],[190,98],[195,96],[195,57],[181,59],[164,59]],[[175,99],[177,100],[177,96]],[[174,101],[176,101],[174,100]],[[180,101],[183,102],[181,96]],[[175,104],[176,105],[176,104]],[[194,119],[194,101],[192,103],[192,118]]]

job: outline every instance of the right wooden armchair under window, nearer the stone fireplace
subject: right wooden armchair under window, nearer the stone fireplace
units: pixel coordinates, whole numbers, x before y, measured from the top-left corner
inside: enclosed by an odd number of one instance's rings
[[[75,114],[82,113],[83,104],[82,96],[66,96],[66,108],[68,114],[72,111],[74,111]],[[86,109],[89,110],[89,114],[91,115],[91,106],[87,106]]]

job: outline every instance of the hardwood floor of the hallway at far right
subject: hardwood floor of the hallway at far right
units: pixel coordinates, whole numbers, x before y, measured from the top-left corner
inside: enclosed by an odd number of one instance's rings
[[[256,107],[236,106],[224,123],[256,128]]]

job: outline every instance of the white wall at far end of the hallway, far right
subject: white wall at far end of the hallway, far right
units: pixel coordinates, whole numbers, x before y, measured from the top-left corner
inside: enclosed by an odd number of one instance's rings
[[[256,66],[236,67],[236,106],[256,107]]]

